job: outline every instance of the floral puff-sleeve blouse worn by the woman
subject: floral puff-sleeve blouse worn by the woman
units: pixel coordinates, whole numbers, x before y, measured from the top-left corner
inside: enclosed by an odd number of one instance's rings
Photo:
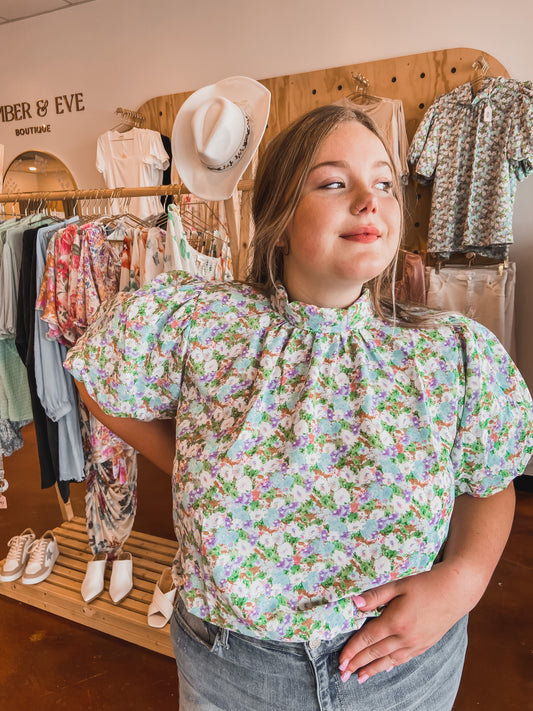
[[[171,272],[103,304],[66,367],[102,408],[176,417],[173,573],[188,609],[329,639],[351,596],[431,567],[454,497],[522,472],[532,406],[483,326],[377,318]]]

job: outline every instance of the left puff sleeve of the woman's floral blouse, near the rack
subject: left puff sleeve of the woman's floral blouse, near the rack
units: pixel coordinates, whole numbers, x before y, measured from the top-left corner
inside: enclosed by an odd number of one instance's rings
[[[168,272],[101,305],[65,367],[104,412],[139,420],[175,416],[191,319],[204,285]]]

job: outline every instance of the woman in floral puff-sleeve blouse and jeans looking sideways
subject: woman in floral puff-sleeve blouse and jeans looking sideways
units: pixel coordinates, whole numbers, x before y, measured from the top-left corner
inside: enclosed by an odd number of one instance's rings
[[[529,393],[479,324],[393,303],[398,178],[357,109],[270,143],[254,221],[246,284],[160,277],[67,362],[173,472],[180,709],[449,710]]]

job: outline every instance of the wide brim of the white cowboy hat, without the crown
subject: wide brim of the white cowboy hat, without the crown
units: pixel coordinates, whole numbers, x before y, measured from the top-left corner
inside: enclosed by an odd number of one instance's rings
[[[250,136],[242,157],[219,172],[209,170],[200,161],[192,133],[194,113],[204,101],[216,97],[237,104],[250,119]],[[263,138],[269,111],[269,90],[255,79],[241,76],[198,89],[184,101],[172,129],[172,159],[181,180],[194,195],[204,200],[226,200],[233,195]]]

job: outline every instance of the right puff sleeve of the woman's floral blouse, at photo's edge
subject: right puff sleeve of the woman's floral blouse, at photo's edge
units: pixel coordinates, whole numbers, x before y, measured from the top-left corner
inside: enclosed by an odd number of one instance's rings
[[[465,318],[456,331],[464,362],[463,408],[451,452],[456,494],[484,497],[507,488],[531,457],[531,396],[487,328]]]

